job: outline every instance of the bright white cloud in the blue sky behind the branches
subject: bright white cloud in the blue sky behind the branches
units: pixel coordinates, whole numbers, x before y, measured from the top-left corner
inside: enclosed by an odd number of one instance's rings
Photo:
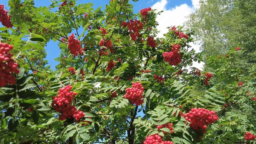
[[[160,31],[157,37],[163,37],[163,34],[168,32],[168,26],[179,26],[183,25],[186,22],[187,17],[194,12],[199,5],[200,0],[192,0],[192,6],[188,6],[188,4],[181,4],[180,6],[176,6],[175,8],[167,9],[166,4],[167,0],[160,0],[156,2],[151,8],[156,9],[158,12],[164,10],[160,15],[157,16],[156,21],[158,22],[157,29]],[[196,52],[200,52],[200,45],[190,43],[192,48],[196,50]],[[191,48],[191,49],[192,49]],[[202,69],[203,62],[200,64],[198,62],[194,62],[192,67],[196,67]]]

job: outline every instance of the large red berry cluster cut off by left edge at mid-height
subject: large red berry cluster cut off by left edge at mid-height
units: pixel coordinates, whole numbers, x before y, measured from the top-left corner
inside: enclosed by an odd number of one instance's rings
[[[18,64],[14,62],[13,54],[10,50],[12,45],[0,43],[0,87],[8,84],[15,84],[16,78],[13,74],[19,74]]]

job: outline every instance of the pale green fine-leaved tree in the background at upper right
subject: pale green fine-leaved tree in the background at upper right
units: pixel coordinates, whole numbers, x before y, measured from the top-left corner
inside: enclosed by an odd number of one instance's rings
[[[238,46],[247,50],[246,63],[255,63],[255,0],[205,0],[186,25],[195,31],[204,58]]]

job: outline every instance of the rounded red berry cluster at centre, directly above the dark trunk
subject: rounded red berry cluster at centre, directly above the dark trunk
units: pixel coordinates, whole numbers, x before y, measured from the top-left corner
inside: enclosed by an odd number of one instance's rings
[[[144,90],[144,87],[142,87],[142,84],[140,82],[132,83],[131,88],[126,88],[125,90],[126,94],[124,95],[124,98],[130,100],[132,105],[136,104],[136,106],[139,106],[144,102],[142,100],[143,90]]]

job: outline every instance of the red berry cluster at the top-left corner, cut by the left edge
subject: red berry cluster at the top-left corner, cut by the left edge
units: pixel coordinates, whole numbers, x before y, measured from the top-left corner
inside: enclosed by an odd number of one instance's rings
[[[11,16],[8,15],[8,11],[4,10],[4,5],[0,4],[0,22],[6,28],[12,28]]]

